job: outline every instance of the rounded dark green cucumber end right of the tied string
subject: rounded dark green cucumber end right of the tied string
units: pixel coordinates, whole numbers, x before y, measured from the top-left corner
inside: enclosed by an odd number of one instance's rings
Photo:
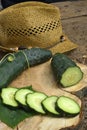
[[[44,63],[52,57],[52,52],[50,50],[42,48],[31,48],[29,51],[25,49],[24,53],[28,58],[30,67]]]

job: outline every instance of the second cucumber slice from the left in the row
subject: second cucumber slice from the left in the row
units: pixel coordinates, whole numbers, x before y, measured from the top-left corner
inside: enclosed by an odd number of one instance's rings
[[[27,105],[26,104],[26,95],[28,93],[33,93],[33,91],[29,90],[28,88],[21,88],[21,89],[17,90],[15,93],[16,101],[18,101],[20,104],[26,106]]]

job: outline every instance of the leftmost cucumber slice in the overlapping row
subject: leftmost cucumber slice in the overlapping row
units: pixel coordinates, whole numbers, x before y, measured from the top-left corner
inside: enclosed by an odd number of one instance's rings
[[[4,104],[18,107],[18,103],[16,102],[14,95],[18,89],[17,88],[3,88],[1,91],[1,98]]]

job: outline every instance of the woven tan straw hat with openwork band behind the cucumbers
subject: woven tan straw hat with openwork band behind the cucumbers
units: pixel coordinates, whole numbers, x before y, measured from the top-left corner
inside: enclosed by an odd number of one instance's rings
[[[59,8],[42,2],[23,2],[0,11],[0,48],[41,47],[53,53],[77,47],[62,31]]]

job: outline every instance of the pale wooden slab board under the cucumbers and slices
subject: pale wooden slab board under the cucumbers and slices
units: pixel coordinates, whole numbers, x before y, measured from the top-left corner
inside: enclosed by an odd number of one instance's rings
[[[78,65],[84,72],[84,77],[79,84],[68,88],[67,91],[81,89],[87,84],[87,66],[82,64]],[[72,97],[81,105],[79,98],[77,98],[75,95],[72,95],[70,92],[64,91],[61,89],[61,86],[57,84],[51,69],[50,61],[24,71],[16,80],[11,83],[10,86],[20,88],[28,85],[32,85],[33,89],[44,92],[47,95],[66,95]],[[44,126],[45,130],[59,130],[60,128],[77,125],[79,121],[80,115],[77,115],[73,118],[57,118],[38,115],[21,122],[18,125],[18,130],[27,130],[27,128],[29,130],[44,130]],[[9,127],[6,127],[6,125],[2,124],[3,123],[0,123],[0,130],[11,130]]]

